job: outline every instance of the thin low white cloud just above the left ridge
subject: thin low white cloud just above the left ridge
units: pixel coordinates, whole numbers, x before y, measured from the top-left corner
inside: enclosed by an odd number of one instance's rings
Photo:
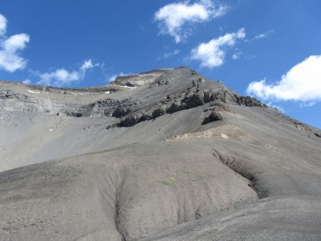
[[[67,71],[65,68],[58,68],[56,71],[49,73],[37,73],[40,77],[37,84],[45,86],[70,86],[71,83],[82,81],[86,76],[86,71],[95,66],[98,65],[93,65],[92,61],[88,60],[83,62],[78,71]]]

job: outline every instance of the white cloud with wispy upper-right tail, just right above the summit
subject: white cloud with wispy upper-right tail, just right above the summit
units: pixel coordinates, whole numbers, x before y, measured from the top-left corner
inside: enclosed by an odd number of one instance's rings
[[[232,34],[225,34],[212,39],[208,43],[200,43],[191,51],[190,58],[200,61],[201,67],[213,68],[221,66],[225,60],[226,47],[235,45],[238,39],[245,38],[245,29],[239,29]]]

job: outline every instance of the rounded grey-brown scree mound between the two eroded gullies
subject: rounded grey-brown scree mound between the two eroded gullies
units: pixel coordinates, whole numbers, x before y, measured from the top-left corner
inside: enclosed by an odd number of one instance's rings
[[[106,175],[106,186],[113,184],[116,187],[113,191],[114,220],[123,240],[139,240],[258,199],[248,186],[248,180],[223,165],[218,158],[213,162],[213,154],[207,146],[172,143],[171,146],[178,146],[173,159],[169,143],[156,145],[160,150],[154,149],[155,145],[151,143],[147,152],[137,144],[126,148],[124,153],[115,153],[116,159],[122,160],[125,154],[135,156],[137,151],[142,152],[139,162],[117,162],[126,168],[111,168],[108,173],[101,169],[95,174]],[[185,150],[183,155],[181,148]],[[200,158],[199,151],[205,157]],[[113,155],[108,153],[108,162],[115,161]],[[118,178],[108,178],[108,175]]]

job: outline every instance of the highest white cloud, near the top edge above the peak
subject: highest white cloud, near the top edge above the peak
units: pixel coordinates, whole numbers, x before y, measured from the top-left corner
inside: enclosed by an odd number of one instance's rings
[[[160,34],[169,34],[179,43],[190,36],[191,24],[218,18],[227,10],[227,6],[210,0],[200,0],[194,4],[190,4],[190,1],[180,1],[163,6],[156,12],[154,19],[160,22]]]

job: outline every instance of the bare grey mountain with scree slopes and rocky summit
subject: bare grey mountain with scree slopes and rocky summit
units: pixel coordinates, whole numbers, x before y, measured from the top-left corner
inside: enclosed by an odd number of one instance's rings
[[[0,82],[0,240],[321,240],[321,131],[189,68]]]

